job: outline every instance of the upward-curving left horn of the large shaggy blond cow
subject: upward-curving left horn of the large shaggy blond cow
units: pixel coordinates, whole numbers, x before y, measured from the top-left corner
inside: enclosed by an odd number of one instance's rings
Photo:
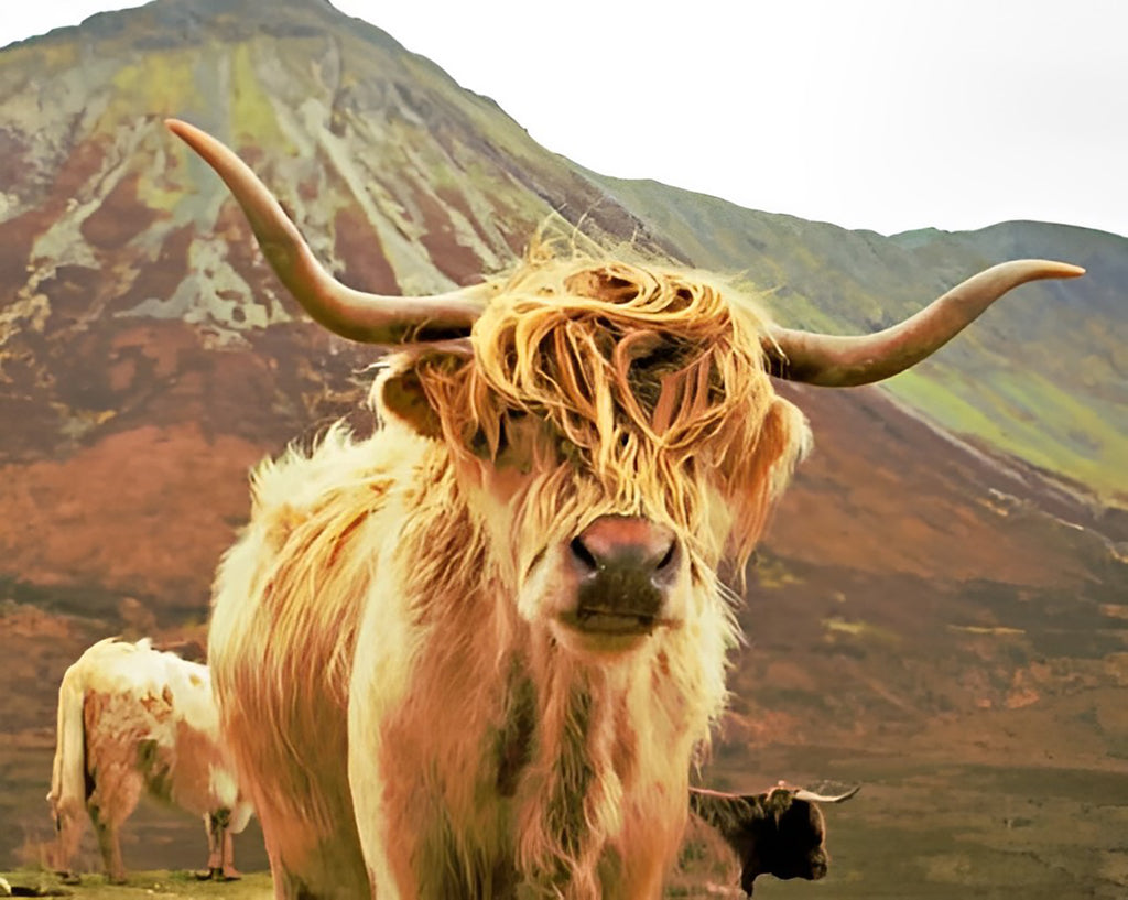
[[[403,344],[465,337],[482,315],[490,289],[461,288],[433,297],[384,297],[355,291],[317,262],[282,206],[250,168],[208,132],[165,120],[195,150],[243,206],[263,255],[279,280],[320,325],[364,344]]]

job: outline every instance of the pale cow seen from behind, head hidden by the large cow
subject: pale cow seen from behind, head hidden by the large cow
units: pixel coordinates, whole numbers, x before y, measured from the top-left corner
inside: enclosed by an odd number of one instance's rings
[[[47,802],[59,833],[55,865],[71,862],[87,813],[106,874],[125,881],[120,829],[142,792],[203,817],[208,874],[238,877],[231,835],[247,827],[243,800],[220,740],[208,668],[108,637],[83,653],[59,688],[59,724]]]

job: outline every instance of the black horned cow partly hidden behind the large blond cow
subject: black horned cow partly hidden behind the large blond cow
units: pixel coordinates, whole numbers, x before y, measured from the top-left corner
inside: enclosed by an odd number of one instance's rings
[[[740,886],[752,895],[752,882],[826,877],[830,855],[819,803],[841,803],[857,793],[816,794],[782,784],[764,794],[726,794],[690,788],[689,809],[713,828],[740,861]]]

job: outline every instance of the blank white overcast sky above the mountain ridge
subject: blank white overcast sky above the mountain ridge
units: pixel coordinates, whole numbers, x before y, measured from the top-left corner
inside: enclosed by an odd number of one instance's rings
[[[882,233],[1128,236],[1125,0],[332,2],[606,175]],[[0,45],[139,3],[3,6]]]

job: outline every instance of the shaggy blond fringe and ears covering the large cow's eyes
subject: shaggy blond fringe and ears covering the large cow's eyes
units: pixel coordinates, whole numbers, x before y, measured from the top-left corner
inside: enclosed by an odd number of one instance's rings
[[[484,444],[496,459],[512,423],[537,416],[558,440],[538,443],[535,468],[559,467],[566,480],[579,462],[602,506],[690,540],[716,531],[716,485],[743,573],[809,443],[802,414],[765,374],[769,319],[706,273],[556,253],[534,245],[499,282],[473,359],[413,359],[446,442],[464,457]],[[693,549],[710,567],[724,550]]]

